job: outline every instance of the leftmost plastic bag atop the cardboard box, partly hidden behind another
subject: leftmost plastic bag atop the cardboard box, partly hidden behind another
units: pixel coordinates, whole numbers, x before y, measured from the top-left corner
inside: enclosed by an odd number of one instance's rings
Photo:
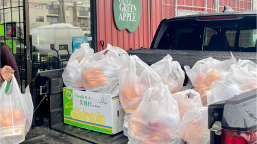
[[[85,90],[81,76],[81,68],[83,63],[88,61],[93,53],[94,50],[89,47],[88,43],[81,44],[79,49],[75,49],[62,73],[63,82],[66,87]]]

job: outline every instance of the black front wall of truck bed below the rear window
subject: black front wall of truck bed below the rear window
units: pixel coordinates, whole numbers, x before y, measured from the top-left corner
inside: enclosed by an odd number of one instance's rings
[[[151,65],[160,61],[167,54],[173,57],[173,61],[178,61],[182,67],[190,66],[193,67],[194,64],[208,57],[223,61],[225,59],[231,58],[231,53],[229,51],[182,51],[182,50],[160,50],[160,49],[146,49],[140,48],[136,50],[127,51],[129,55],[137,55],[142,61]],[[253,52],[232,52],[232,55],[238,59],[248,59],[256,63],[256,53]]]

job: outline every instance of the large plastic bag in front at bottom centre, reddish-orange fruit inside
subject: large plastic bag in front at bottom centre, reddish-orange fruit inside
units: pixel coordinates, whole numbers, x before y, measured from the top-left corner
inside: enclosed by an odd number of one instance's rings
[[[167,85],[151,87],[132,115],[128,126],[130,143],[182,144],[178,131],[180,113]]]

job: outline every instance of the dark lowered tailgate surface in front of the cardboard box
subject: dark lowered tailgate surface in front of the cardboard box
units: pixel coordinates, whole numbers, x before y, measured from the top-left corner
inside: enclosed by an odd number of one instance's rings
[[[80,143],[110,143],[125,144],[128,142],[127,136],[123,132],[109,135],[92,130],[86,130],[71,125],[62,124],[59,126],[45,128],[44,126],[36,127],[29,130],[22,144],[43,144],[43,143],[60,143],[60,144],[80,144]]]

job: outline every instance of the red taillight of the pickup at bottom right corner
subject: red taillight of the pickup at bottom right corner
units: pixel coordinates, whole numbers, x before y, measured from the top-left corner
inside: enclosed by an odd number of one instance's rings
[[[221,130],[221,144],[256,144],[256,128],[249,131]]]

